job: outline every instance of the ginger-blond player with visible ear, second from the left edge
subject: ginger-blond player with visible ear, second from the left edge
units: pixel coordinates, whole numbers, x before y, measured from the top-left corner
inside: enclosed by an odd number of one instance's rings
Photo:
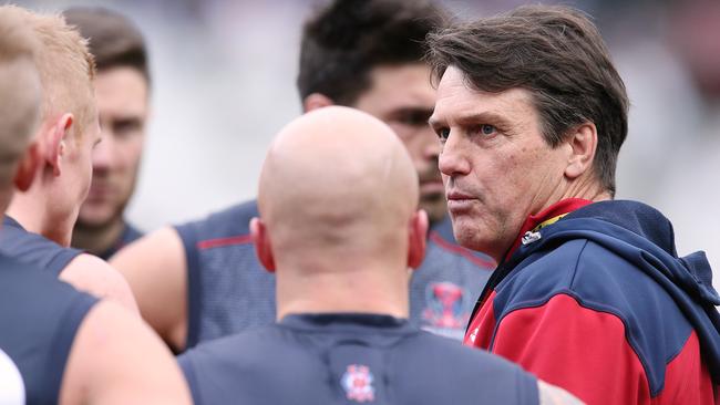
[[[100,142],[92,55],[60,17],[12,7],[3,12],[39,39],[34,61],[43,95],[40,124],[14,178],[18,193],[6,210],[0,251],[136,311],[120,273],[94,256],[68,248],[92,176],[92,148]]]

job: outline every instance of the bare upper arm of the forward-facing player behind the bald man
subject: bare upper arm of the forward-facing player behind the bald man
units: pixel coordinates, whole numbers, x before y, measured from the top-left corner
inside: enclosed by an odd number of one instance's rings
[[[130,283],[140,313],[173,350],[187,341],[187,264],[173,228],[160,229],[115,253],[111,263]]]

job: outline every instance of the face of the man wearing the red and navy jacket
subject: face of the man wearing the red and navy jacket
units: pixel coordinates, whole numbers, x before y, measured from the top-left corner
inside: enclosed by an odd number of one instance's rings
[[[559,199],[567,150],[544,141],[528,91],[479,92],[452,66],[430,123],[455,238],[501,261],[525,219]]]

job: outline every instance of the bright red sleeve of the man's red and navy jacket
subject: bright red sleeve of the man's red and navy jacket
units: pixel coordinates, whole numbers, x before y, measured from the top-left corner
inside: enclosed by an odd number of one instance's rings
[[[492,352],[588,404],[650,403],[645,371],[620,319],[566,294],[504,316]]]

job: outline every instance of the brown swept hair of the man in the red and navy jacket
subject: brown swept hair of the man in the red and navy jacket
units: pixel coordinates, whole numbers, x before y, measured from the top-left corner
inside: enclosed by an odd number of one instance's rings
[[[553,147],[573,127],[594,123],[594,169],[615,195],[629,102],[609,51],[586,14],[562,6],[524,6],[436,31],[428,37],[428,46],[435,81],[454,66],[475,90],[528,90],[543,136]]]

